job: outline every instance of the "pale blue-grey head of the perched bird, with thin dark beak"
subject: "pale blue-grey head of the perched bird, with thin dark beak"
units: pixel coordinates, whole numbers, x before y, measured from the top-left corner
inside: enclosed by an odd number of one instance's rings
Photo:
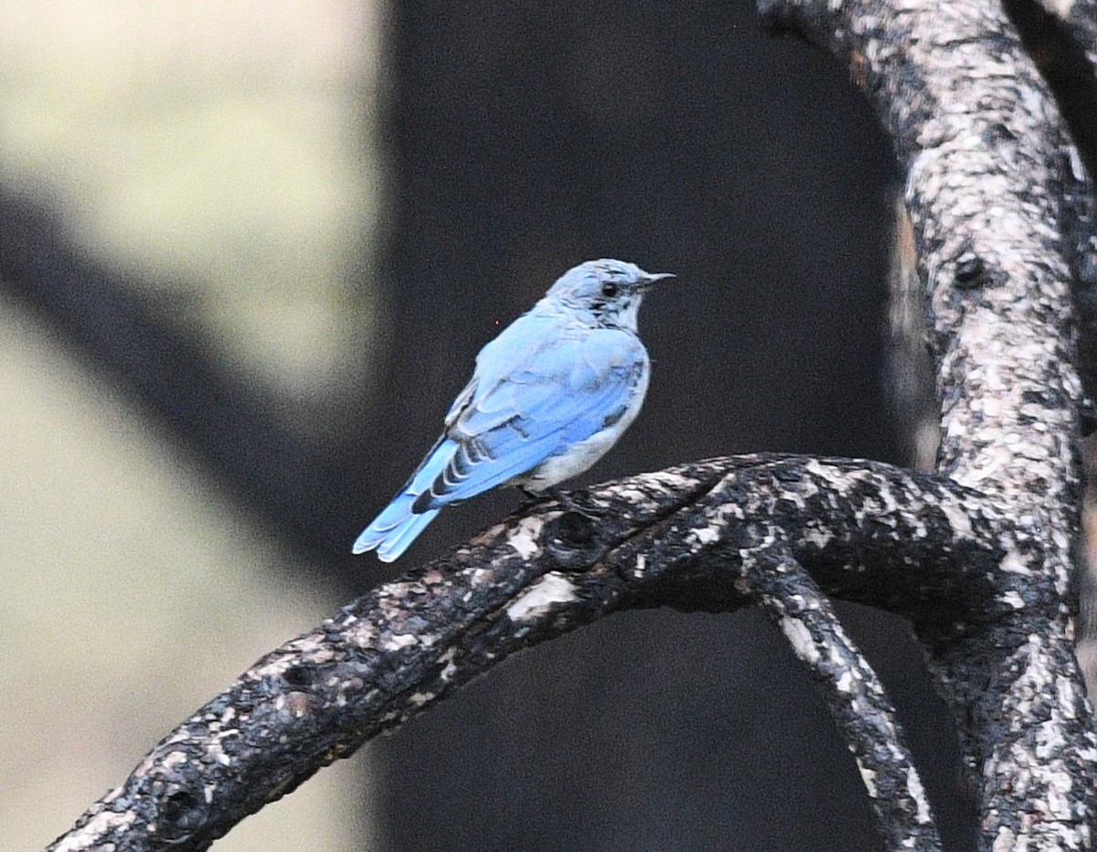
[[[561,275],[545,297],[591,314],[599,326],[635,331],[636,314],[648,287],[672,277],[672,273],[644,272],[621,260],[588,260]]]

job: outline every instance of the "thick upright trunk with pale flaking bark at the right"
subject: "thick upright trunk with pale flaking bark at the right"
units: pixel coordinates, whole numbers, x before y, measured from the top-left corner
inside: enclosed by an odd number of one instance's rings
[[[1070,296],[1093,220],[1064,122],[997,4],[761,5],[849,64],[894,140],[929,295],[938,470],[994,495],[1028,539],[1015,570],[1031,586],[1016,617],[930,644],[980,792],[983,843],[1088,847],[1095,738],[1068,593],[1082,401]],[[1033,610],[1038,599],[1058,611]],[[1049,729],[1064,735],[1054,756]]]

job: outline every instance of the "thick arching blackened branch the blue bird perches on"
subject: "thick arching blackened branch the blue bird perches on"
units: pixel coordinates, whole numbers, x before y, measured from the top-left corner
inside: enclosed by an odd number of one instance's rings
[[[924,636],[994,629],[1028,595],[1007,515],[948,479],[887,465],[745,456],[579,499],[597,525],[533,505],[268,655],[54,848],[204,849],[516,651],[626,609],[748,605],[758,592],[745,591],[743,554],[773,531],[828,593],[903,613]],[[873,703],[886,706],[882,694]],[[906,785],[918,814],[916,782]]]

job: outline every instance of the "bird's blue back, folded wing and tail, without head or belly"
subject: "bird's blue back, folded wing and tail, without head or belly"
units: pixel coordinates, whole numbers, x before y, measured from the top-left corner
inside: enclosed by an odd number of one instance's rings
[[[527,314],[488,343],[438,440],[353,552],[396,559],[448,503],[533,469],[620,419],[647,353],[618,329]]]

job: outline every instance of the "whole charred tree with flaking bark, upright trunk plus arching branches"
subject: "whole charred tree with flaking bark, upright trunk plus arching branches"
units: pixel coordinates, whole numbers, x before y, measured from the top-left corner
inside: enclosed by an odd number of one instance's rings
[[[746,456],[593,488],[577,499],[597,523],[531,507],[264,657],[56,849],[202,849],[514,651],[626,609],[753,604],[813,668],[890,845],[936,848],[890,703],[821,592],[911,620],[957,720],[982,848],[1093,847],[1097,737],[1071,595],[1071,294],[1093,220],[1066,124],[994,3],[762,12],[847,63],[894,139],[929,309],[937,473]]]

